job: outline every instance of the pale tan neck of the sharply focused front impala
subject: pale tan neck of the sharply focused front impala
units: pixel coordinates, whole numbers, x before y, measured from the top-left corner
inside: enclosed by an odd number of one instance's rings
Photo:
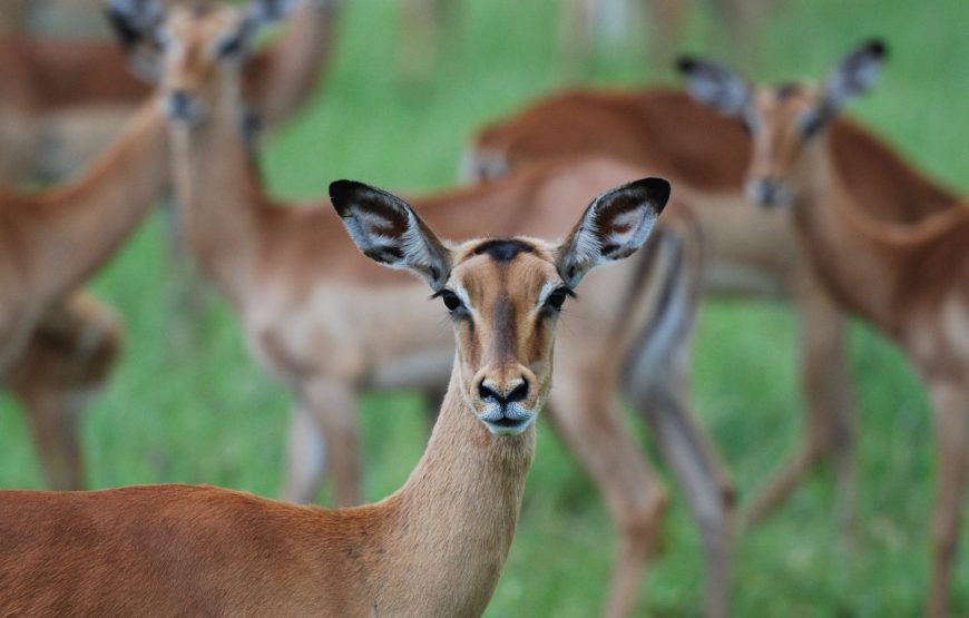
[[[451,375],[427,451],[407,484],[382,504],[389,519],[378,552],[376,615],[480,616],[515,534],[535,426],[495,436]]]

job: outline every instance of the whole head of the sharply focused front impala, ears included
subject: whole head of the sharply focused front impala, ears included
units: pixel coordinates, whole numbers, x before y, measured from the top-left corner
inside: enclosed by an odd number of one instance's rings
[[[643,245],[669,185],[648,178],[604,194],[562,244],[519,237],[448,246],[380,189],[339,180],[330,196],[365,255],[428,282],[453,323],[466,406],[492,434],[517,435],[548,395],[555,326],[572,288],[593,267]]]

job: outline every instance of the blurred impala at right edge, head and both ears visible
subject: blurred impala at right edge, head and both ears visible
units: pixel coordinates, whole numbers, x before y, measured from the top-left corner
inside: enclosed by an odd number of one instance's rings
[[[838,302],[881,328],[926,383],[938,439],[932,582],[927,615],[946,616],[969,472],[969,205],[919,218],[865,208],[833,163],[829,124],[881,68],[872,41],[824,84],[751,89],[720,65],[688,61],[702,100],[751,126],[747,194],[791,208],[801,246]],[[890,179],[889,179],[890,180]]]

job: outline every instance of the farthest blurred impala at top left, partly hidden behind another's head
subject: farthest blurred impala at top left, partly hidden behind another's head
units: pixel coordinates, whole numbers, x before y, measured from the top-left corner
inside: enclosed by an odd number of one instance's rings
[[[327,65],[335,21],[334,0],[302,0],[285,36],[249,60],[246,101],[265,126],[310,95]],[[150,94],[109,41],[0,39],[0,184],[79,169]]]

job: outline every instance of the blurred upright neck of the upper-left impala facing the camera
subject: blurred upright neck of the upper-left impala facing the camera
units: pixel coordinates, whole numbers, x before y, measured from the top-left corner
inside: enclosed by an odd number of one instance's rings
[[[236,76],[223,76],[202,124],[174,124],[173,167],[185,233],[203,271],[238,306],[251,282],[264,208],[243,143]]]

